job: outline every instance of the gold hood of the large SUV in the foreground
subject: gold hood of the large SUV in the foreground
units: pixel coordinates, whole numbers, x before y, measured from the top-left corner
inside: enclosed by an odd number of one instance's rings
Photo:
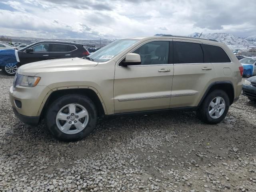
[[[52,59],[20,66],[18,74],[35,76],[42,72],[70,71],[92,68],[98,63],[82,58]]]

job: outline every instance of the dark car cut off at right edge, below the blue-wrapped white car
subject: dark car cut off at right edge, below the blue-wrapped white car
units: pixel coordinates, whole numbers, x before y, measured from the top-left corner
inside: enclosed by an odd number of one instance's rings
[[[242,94],[247,96],[249,100],[256,102],[256,76],[244,81]]]

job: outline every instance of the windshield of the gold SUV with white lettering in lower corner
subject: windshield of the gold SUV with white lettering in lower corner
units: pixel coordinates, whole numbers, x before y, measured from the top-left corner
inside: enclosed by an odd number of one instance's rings
[[[136,42],[138,40],[135,39],[117,40],[97,50],[94,54],[89,55],[88,58],[91,58],[95,62],[106,62]]]

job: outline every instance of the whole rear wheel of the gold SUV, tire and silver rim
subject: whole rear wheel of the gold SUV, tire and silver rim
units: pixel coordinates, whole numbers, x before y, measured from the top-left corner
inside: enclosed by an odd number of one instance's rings
[[[214,90],[206,96],[196,114],[202,122],[217,124],[226,117],[229,105],[230,101],[226,92]]]

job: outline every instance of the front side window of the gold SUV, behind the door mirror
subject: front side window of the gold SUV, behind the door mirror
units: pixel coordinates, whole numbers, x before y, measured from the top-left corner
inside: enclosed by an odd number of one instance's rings
[[[168,64],[169,42],[149,42],[140,46],[133,53],[140,55],[141,65]]]

